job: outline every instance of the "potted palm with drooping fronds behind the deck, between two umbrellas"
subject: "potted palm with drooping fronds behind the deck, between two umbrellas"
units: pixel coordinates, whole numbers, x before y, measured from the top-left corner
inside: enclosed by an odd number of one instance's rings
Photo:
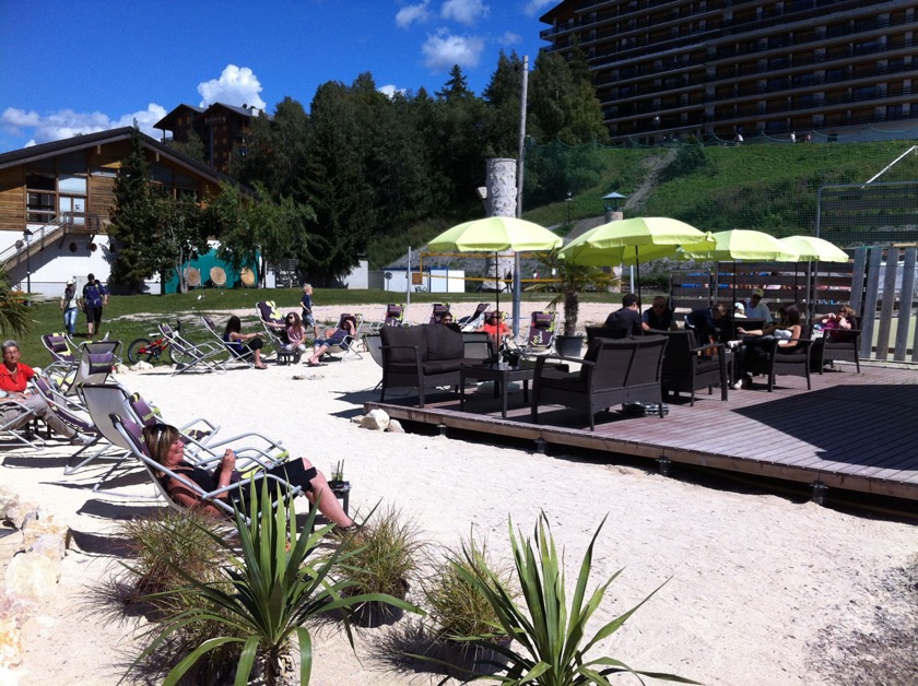
[[[549,253],[542,263],[545,272],[552,274],[553,281],[541,287],[554,288],[557,293],[549,303],[549,309],[556,311],[558,305],[564,305],[564,324],[562,334],[555,336],[555,350],[563,357],[578,357],[584,341],[581,335],[576,335],[577,318],[580,314],[580,293],[609,291],[619,284],[619,277],[599,267],[587,267],[563,260],[557,256],[556,250]]]

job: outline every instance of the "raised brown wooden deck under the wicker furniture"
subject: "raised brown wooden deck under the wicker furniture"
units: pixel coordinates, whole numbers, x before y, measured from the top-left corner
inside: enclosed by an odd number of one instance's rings
[[[756,385],[731,390],[722,402],[718,389],[703,391],[694,407],[683,395],[669,401],[662,419],[613,411],[597,416],[595,433],[584,415],[557,406],[543,406],[540,424],[531,424],[521,390],[511,391],[502,419],[490,385],[467,390],[466,412],[448,393],[431,395],[423,410],[410,406],[416,395],[365,409],[400,421],[918,500],[918,371],[861,369],[839,365],[814,374],[811,391],[801,377],[779,376],[772,393]]]

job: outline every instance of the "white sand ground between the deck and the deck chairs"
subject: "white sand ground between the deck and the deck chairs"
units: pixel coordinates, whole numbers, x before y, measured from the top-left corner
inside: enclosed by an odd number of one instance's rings
[[[409,318],[422,320],[428,309],[413,306]],[[581,323],[600,321],[608,309],[584,306]],[[332,318],[339,311],[328,307],[318,314]],[[376,314],[369,307],[364,312]],[[378,398],[373,389],[380,377],[367,355],[319,368],[271,365],[267,371],[178,377],[156,369],[118,380],[155,402],[172,422],[207,416],[227,433],[258,430],[282,439],[294,456],[308,457],[326,473],[343,459],[353,484],[352,509],[395,504],[434,545],[454,545],[473,527],[506,555],[508,517],[529,534],[544,511],[566,551],[570,586],[592,533],[607,518],[593,586],[621,568],[624,572],[595,625],[669,580],[591,653],[636,669],[707,684],[837,683],[820,663],[843,655],[846,637],[878,630],[880,611],[892,617],[915,612],[914,596],[896,590],[897,570],[918,555],[915,525],[685,483],[649,465],[643,471],[609,463],[602,454],[548,457],[487,442],[362,429],[351,417],[362,414],[363,402]],[[149,507],[91,493],[97,470],[63,476],[70,452],[69,447],[0,452],[0,484],[40,502],[46,518],[81,534],[117,533],[118,518]],[[0,564],[8,564],[16,539],[0,540]],[[86,602],[87,589],[106,583],[118,561],[68,551],[56,598],[23,612],[22,662],[0,671],[0,684],[118,682],[126,651],[134,649],[133,619],[116,622]],[[378,658],[374,646],[389,630],[358,629],[354,655],[342,632],[321,628],[314,637],[313,684],[437,683],[442,677],[400,673]]]

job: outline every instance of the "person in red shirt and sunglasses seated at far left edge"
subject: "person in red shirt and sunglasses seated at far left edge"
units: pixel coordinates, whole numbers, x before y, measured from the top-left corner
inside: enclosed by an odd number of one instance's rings
[[[3,352],[3,364],[0,365],[0,426],[16,429],[28,424],[37,415],[57,434],[64,436],[75,445],[86,446],[93,441],[91,436],[79,434],[68,426],[48,403],[28,388],[28,382],[35,376],[35,370],[20,362],[19,343],[4,341],[0,345]],[[32,410],[35,414],[25,411]],[[16,421],[16,417],[20,417]],[[9,426],[8,426],[9,423]]]

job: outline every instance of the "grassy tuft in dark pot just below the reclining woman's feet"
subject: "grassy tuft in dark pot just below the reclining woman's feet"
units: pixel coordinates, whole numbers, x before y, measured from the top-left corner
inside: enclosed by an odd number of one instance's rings
[[[343,539],[340,548],[338,576],[345,586],[345,596],[385,593],[403,601],[423,544],[413,522],[390,506]],[[356,603],[350,610],[354,623],[365,627],[393,624],[403,614],[404,606],[375,600]]]

